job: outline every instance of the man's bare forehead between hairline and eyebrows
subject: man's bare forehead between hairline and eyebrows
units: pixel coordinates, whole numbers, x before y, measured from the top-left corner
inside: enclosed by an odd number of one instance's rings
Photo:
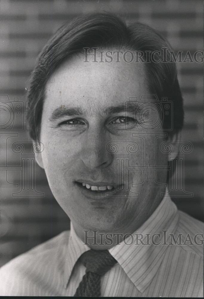
[[[46,109],[59,104],[86,108],[118,105],[148,93],[144,65],[84,60],[82,54],[71,57],[51,75],[46,84]]]

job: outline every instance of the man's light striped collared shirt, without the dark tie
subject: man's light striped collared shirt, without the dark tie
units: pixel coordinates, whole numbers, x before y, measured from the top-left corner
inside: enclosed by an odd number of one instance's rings
[[[198,233],[203,233],[203,223],[177,210],[168,196],[163,198],[133,237],[109,249],[117,263],[101,277],[101,296],[203,297],[203,246]],[[138,234],[145,236],[143,244]],[[181,239],[172,242],[171,234]],[[73,296],[85,274],[79,257],[89,249],[71,225],[70,231],[1,267],[0,295]]]

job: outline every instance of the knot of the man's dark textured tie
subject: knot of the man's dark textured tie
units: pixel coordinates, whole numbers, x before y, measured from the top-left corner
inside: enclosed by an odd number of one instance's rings
[[[93,272],[100,276],[117,263],[108,250],[88,250],[82,254],[80,260],[86,267],[86,272]]]

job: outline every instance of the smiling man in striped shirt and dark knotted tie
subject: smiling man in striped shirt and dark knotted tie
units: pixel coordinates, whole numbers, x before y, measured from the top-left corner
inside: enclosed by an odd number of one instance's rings
[[[166,190],[164,149],[179,152],[183,108],[162,49],[148,26],[93,13],[42,50],[27,121],[71,230],[3,266],[1,295],[203,296],[202,223]]]

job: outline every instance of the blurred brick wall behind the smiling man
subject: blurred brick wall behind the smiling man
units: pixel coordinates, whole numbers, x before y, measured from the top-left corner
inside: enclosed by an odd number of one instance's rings
[[[168,38],[175,51],[203,50],[203,1],[1,0],[0,94],[24,102],[30,72],[47,39],[65,21],[93,10],[118,13],[127,22],[151,25]],[[178,63],[177,67],[185,108],[182,140],[190,141],[194,147],[185,156],[185,189],[194,196],[178,197],[174,202],[181,210],[203,220],[203,65]],[[3,120],[6,119],[4,111],[1,112]],[[22,125],[22,117],[16,116],[13,129],[2,130],[0,135],[1,167],[13,167],[7,172],[4,168],[0,171],[0,266],[69,228],[68,217],[53,198],[45,173],[37,165],[36,190],[45,196],[12,195],[19,192],[14,184],[20,181],[21,157],[8,148],[11,141],[29,141]]]

